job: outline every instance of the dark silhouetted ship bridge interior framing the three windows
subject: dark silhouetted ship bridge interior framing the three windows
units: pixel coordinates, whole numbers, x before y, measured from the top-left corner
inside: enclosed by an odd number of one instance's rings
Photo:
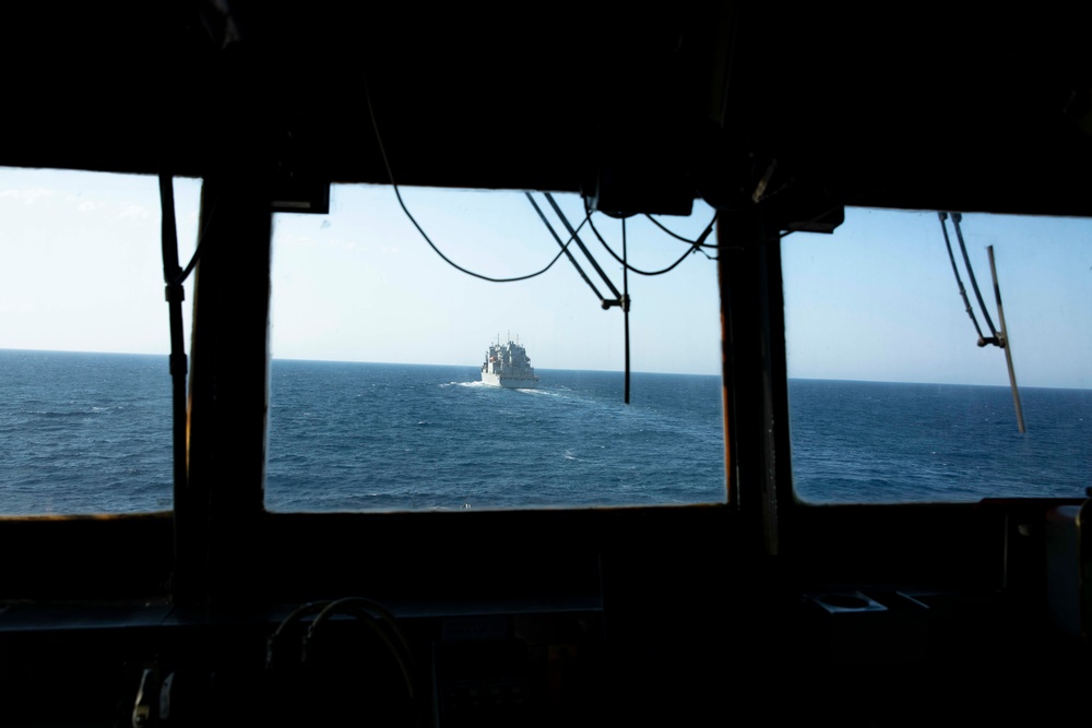
[[[1092,217],[1076,8],[57,0],[4,19],[0,166],[200,179],[215,219],[174,508],[0,520],[0,725],[1087,714],[1092,550],[1077,530],[1061,559],[1067,631],[1048,538],[1082,499],[796,497],[779,242],[847,207]],[[272,214],[390,184],[388,159],[405,186],[717,211],[725,502],[265,509]],[[337,639],[300,647],[320,617]]]

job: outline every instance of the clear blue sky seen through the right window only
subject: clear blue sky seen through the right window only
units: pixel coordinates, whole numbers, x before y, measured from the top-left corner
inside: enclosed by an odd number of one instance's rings
[[[999,325],[994,246],[1018,382],[1092,387],[1092,222],[964,214],[961,225]],[[976,346],[935,212],[848,210],[833,236],[790,236],[783,251],[791,377],[1008,384],[1004,351]]]

